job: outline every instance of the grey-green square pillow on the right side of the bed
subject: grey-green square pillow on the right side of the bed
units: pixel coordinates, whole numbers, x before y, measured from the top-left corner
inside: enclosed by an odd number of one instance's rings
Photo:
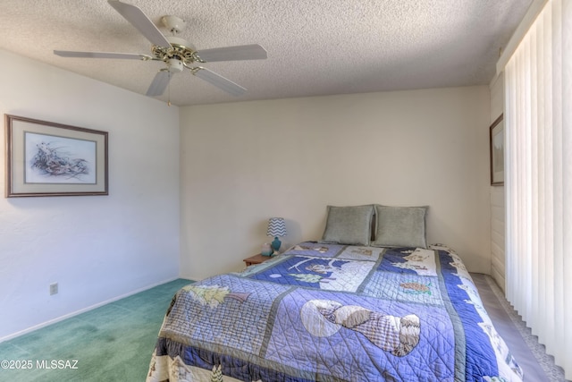
[[[427,248],[425,215],[427,207],[375,205],[376,225],[373,247]]]

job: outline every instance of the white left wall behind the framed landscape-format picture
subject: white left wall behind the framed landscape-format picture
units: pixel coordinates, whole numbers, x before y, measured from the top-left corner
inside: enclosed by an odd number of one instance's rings
[[[178,108],[5,51],[0,84],[3,117],[109,132],[109,196],[0,198],[0,341],[179,276]]]

